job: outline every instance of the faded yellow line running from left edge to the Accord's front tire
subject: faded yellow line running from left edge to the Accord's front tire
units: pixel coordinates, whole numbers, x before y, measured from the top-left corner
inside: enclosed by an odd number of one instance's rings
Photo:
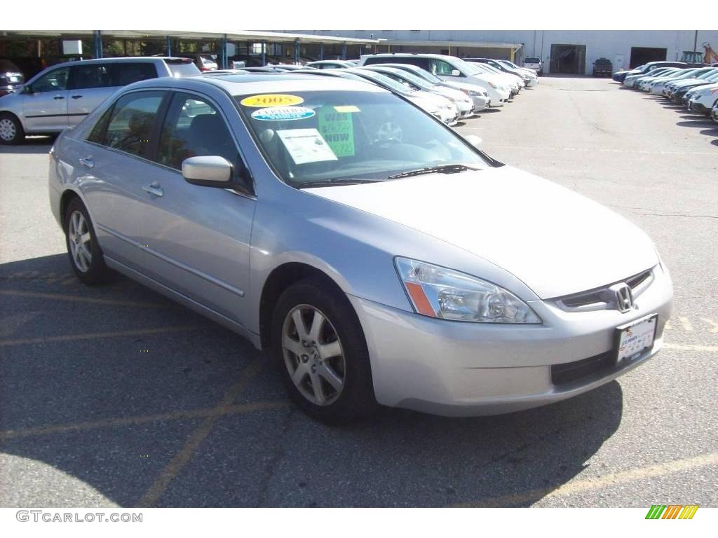
[[[238,405],[230,405],[225,410],[218,410],[217,407],[205,407],[204,409],[193,409],[186,411],[172,411],[158,413],[156,415],[141,415],[137,417],[109,418],[106,420],[94,420],[86,423],[59,424],[54,426],[39,426],[37,428],[22,428],[19,430],[0,431],[0,441],[31,437],[34,435],[52,435],[53,433],[79,432],[95,430],[97,428],[114,428],[117,426],[134,426],[146,423],[166,422],[167,420],[183,420],[187,418],[202,418],[211,415],[236,415],[272,409],[281,409],[289,405],[288,400],[264,400],[261,402],[248,402]]]

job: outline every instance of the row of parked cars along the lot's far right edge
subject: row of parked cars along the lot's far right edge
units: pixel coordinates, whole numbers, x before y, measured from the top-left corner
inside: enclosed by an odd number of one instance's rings
[[[650,62],[634,70],[617,72],[613,78],[626,88],[663,95],[718,123],[718,65]]]

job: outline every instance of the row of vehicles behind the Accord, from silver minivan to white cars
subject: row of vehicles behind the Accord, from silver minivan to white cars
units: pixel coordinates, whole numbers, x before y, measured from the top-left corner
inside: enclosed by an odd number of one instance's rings
[[[74,126],[124,85],[155,77],[270,74],[293,71],[372,82],[403,96],[449,126],[509,103],[538,82],[535,70],[508,60],[430,54],[365,55],[307,65],[207,70],[185,57],[131,57],[54,65],[0,97],[0,143]],[[257,80],[248,79],[248,80]]]

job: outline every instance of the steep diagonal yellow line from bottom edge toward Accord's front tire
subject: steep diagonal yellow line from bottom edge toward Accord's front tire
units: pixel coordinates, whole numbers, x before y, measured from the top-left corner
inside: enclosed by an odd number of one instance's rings
[[[226,392],[218,405],[213,408],[213,411],[216,412],[212,412],[207,418],[205,418],[202,424],[200,424],[197,429],[192,432],[192,435],[190,435],[190,438],[187,439],[187,442],[185,443],[185,446],[182,447],[182,450],[180,450],[180,452],[172,458],[172,461],[167,464],[164,471],[162,471],[154,483],[147,491],[145,491],[139,501],[137,501],[136,506],[150,507],[157,504],[157,500],[162,496],[162,494],[164,494],[165,491],[167,491],[169,484],[174,480],[174,478],[177,478],[177,475],[179,475],[187,463],[190,462],[190,459],[195,455],[197,449],[200,448],[200,445],[202,445],[204,440],[208,437],[208,435],[210,435],[215,423],[217,423],[220,417],[226,414],[226,410],[230,408],[232,402],[236,400],[236,397],[243,392],[249,380],[259,371],[262,364],[264,363],[256,360],[244,369],[239,381]]]

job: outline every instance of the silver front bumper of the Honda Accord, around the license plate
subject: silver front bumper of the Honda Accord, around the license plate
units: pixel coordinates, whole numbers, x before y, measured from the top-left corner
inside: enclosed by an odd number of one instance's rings
[[[654,274],[630,313],[567,312],[550,300],[529,302],[542,325],[445,321],[355,296],[350,301],[366,336],[379,403],[446,416],[497,415],[582,394],[653,357],[673,298],[668,273],[657,265]],[[651,313],[658,313],[653,347],[616,367],[616,327]],[[582,375],[566,381],[557,374],[567,370]]]

